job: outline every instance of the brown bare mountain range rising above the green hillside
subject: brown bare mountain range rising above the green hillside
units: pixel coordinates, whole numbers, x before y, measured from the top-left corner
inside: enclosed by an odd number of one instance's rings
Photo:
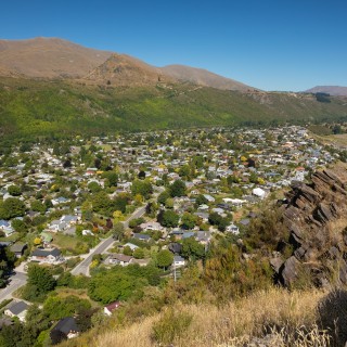
[[[254,88],[183,65],[151,66],[136,57],[100,51],[59,38],[0,40],[0,75],[31,78],[78,78],[113,86],[143,86],[159,81],[188,81],[222,90]]]

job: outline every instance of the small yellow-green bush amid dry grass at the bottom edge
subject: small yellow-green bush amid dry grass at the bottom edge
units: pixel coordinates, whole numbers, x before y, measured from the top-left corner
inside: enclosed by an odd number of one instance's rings
[[[153,339],[160,345],[172,344],[175,339],[183,336],[191,322],[191,314],[169,308],[159,321],[153,324]]]

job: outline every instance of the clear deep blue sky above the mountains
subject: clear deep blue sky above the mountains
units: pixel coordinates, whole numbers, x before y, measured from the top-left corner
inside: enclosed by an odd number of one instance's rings
[[[346,0],[11,0],[0,38],[60,37],[265,90],[347,86]]]

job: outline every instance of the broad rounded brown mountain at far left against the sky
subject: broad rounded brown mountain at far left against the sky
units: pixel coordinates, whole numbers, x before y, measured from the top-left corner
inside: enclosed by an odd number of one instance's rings
[[[81,77],[111,54],[57,38],[0,40],[0,74],[36,78]]]

